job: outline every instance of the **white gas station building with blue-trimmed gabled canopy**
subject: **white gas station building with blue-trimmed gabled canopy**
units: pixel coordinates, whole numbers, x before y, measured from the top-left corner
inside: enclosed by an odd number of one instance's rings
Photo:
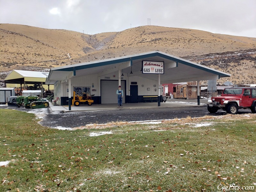
[[[54,84],[60,105],[69,105],[73,91],[94,95],[94,104],[117,103],[118,85],[124,91],[123,102],[147,101],[147,96],[161,100],[161,84],[219,79],[230,75],[219,70],[153,51],[123,57],[52,68],[46,84]],[[157,96],[157,97],[156,97]]]

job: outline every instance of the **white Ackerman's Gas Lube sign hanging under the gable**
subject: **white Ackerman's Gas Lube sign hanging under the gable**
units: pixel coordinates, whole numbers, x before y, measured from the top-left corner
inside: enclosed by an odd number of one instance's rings
[[[142,61],[142,73],[164,74],[164,62]]]

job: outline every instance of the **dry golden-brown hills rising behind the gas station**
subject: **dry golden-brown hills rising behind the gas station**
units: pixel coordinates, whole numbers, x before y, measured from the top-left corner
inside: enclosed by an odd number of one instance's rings
[[[252,37],[159,26],[87,35],[64,29],[0,24],[0,72],[49,70],[155,50],[232,75],[220,79],[220,83],[256,83],[256,38]],[[3,73],[0,77],[5,76]]]

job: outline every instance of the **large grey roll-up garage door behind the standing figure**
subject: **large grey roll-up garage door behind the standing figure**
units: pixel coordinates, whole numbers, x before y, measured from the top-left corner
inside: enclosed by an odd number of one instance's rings
[[[124,92],[123,103],[125,103],[125,81],[121,81],[121,87]],[[101,81],[101,104],[116,103],[118,81],[102,80]]]

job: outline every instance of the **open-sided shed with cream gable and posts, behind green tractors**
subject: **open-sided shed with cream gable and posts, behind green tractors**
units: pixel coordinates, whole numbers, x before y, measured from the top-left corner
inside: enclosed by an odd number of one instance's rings
[[[49,72],[42,71],[26,71],[26,70],[12,70],[12,72],[5,77],[4,83],[6,87],[18,87],[20,86],[20,90],[23,88],[25,90],[25,85],[40,85],[41,86],[41,96],[43,96],[43,87],[47,89],[45,85],[46,77]],[[51,87],[53,88],[53,87]],[[49,89],[49,86],[48,86]]]

